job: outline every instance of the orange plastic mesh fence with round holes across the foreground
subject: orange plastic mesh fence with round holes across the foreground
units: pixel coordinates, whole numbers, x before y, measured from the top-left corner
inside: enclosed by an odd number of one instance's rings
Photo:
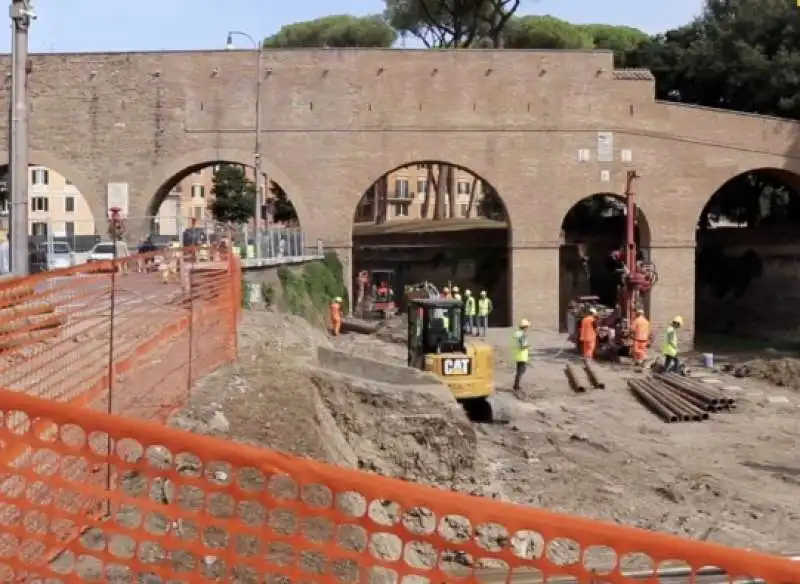
[[[657,582],[654,569],[685,564],[716,566],[731,581],[800,582],[800,565],[786,559],[22,393],[0,392],[0,413],[4,446],[25,448],[0,466],[3,581]]]

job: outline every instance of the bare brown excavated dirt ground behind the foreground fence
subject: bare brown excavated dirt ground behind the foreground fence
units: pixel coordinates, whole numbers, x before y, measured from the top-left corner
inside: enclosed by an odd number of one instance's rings
[[[623,368],[605,368],[605,391],[572,393],[563,337],[533,331],[532,367],[514,395],[510,335],[487,339],[510,421],[472,425],[440,391],[403,377],[403,345],[332,341],[302,319],[247,312],[240,362],[202,380],[171,423],[614,523],[774,553],[799,547],[797,392],[718,373],[740,386],[736,412],[667,425],[625,389]],[[399,339],[402,326],[383,336]]]

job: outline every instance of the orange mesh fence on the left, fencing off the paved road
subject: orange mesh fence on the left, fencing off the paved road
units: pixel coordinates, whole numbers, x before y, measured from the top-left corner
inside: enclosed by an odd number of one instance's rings
[[[224,251],[177,249],[6,281],[0,387],[163,419],[235,358],[237,270]]]

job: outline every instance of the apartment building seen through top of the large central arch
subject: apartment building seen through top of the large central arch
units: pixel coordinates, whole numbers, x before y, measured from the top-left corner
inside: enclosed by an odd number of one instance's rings
[[[438,180],[437,171],[438,169],[434,165],[433,178],[435,181]],[[378,202],[383,198],[384,190],[386,193],[385,220],[424,219],[422,213],[428,179],[428,166],[425,164],[413,164],[389,173],[383,180],[377,181],[362,197],[355,214],[356,222],[378,220],[381,216]],[[452,219],[480,216],[480,202],[488,185],[471,172],[460,168],[453,168],[453,176],[449,183],[448,188],[445,189],[444,216]],[[452,206],[455,213],[452,216],[450,213],[451,192],[455,197],[455,204]],[[474,200],[470,212],[469,203],[473,192]],[[433,216],[434,196],[432,189],[428,217]]]

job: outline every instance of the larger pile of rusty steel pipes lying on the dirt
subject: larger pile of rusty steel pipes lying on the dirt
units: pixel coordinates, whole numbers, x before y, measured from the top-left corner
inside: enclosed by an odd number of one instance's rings
[[[701,422],[712,412],[736,407],[736,400],[723,391],[674,373],[629,379],[628,387],[653,413],[668,424]]]

